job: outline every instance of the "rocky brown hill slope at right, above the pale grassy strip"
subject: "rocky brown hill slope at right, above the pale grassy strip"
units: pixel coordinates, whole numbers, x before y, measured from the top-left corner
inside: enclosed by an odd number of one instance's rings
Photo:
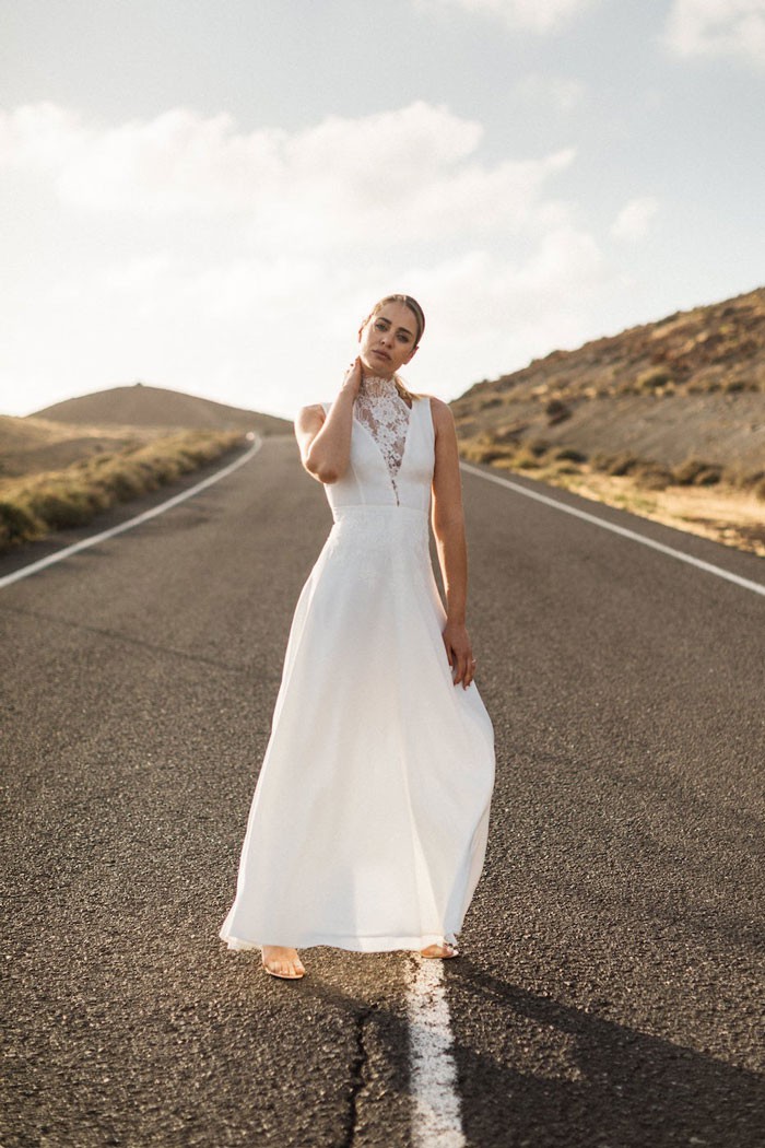
[[[544,439],[674,466],[765,460],[765,288],[595,339],[452,403],[463,440]]]

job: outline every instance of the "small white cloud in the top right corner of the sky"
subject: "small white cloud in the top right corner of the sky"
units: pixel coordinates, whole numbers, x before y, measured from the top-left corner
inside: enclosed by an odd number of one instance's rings
[[[765,0],[674,0],[664,39],[684,57],[739,56],[765,64]]]

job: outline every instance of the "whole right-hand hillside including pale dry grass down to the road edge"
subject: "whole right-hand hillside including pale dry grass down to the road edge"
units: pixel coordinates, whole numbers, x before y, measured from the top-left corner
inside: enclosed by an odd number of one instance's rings
[[[552,351],[451,406],[468,459],[765,554],[764,287]]]

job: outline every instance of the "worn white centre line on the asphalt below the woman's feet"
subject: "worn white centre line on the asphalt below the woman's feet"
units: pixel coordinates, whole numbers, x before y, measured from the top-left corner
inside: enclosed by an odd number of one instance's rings
[[[466,1148],[443,961],[413,956],[406,1003],[415,1148]]]

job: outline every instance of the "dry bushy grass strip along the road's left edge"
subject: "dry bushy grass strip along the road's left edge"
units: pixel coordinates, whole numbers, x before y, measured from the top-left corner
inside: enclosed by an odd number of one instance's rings
[[[60,471],[0,480],[0,551],[157,490],[242,442],[240,433],[188,430],[80,459]]]

